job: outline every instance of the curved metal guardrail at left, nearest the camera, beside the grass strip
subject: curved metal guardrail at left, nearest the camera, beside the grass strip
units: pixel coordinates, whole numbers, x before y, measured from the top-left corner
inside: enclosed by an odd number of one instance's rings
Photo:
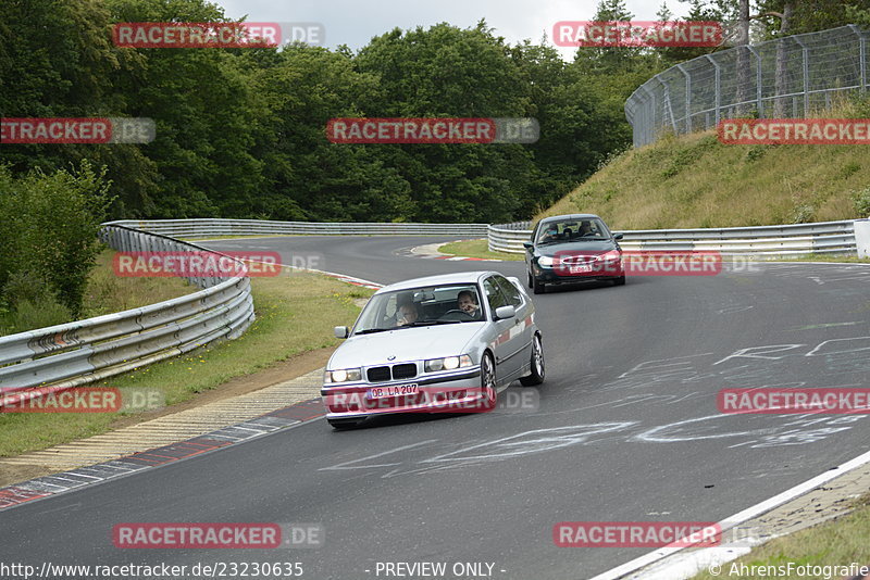
[[[117,224],[104,224],[100,237],[124,252],[210,252]],[[239,272],[247,273],[241,263]],[[14,403],[70,389],[215,339],[234,339],[253,321],[250,280],[244,274],[188,281],[203,290],[141,308],[0,337],[0,405],[3,399]]]

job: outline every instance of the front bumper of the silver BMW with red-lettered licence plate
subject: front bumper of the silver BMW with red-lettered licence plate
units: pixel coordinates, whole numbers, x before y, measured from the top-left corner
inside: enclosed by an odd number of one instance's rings
[[[418,393],[370,400],[370,389],[418,384]],[[347,386],[324,384],[321,399],[326,418],[362,418],[395,413],[475,413],[486,411],[487,396],[481,389],[481,369],[439,373],[407,380],[357,382]]]

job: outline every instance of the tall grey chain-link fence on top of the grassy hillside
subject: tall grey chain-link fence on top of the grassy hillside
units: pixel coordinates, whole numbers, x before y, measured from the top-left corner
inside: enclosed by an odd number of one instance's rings
[[[634,147],[662,131],[713,128],[722,118],[805,117],[868,86],[870,30],[850,24],[698,56],[654,76],[625,101]]]

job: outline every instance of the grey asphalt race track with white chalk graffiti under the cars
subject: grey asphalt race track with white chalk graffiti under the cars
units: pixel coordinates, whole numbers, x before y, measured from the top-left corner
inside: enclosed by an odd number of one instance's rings
[[[525,280],[521,262],[395,253],[447,239],[206,245],[279,251],[284,263],[316,254],[320,269],[383,283],[460,269]],[[301,562],[311,579],[385,578],[378,562],[488,563],[497,579],[589,578],[649,549],[557,547],[555,524],[717,521],[868,450],[866,415],[725,416],[716,406],[723,388],[866,387],[868,283],[867,266],[767,264],[550,290],[534,297],[547,358],[537,411],[384,418],[346,432],[303,424],[0,513],[0,559]],[[140,521],[316,522],[325,544],[112,545],[114,525]]]

